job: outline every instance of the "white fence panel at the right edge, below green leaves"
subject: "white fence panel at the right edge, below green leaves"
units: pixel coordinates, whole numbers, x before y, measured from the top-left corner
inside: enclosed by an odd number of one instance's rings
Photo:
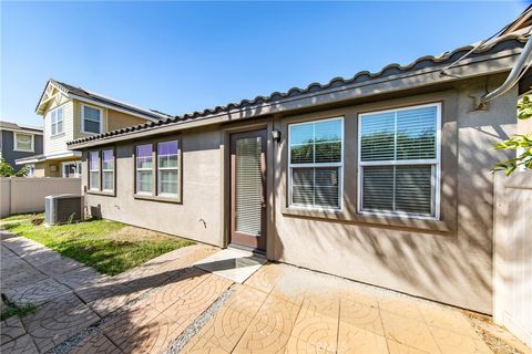
[[[532,171],[495,176],[493,320],[532,346]]]

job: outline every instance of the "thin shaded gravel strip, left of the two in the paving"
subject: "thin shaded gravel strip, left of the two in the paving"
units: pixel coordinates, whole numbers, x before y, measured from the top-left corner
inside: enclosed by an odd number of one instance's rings
[[[94,333],[98,333],[98,334],[103,334],[102,331],[100,330],[105,323],[108,323],[109,321],[113,320],[114,317],[119,316],[120,314],[122,314],[124,311],[127,311],[129,309],[131,309],[135,303],[137,303],[139,301],[147,298],[147,296],[151,296],[152,294],[161,291],[161,289],[163,289],[164,287],[166,287],[168,283],[172,283],[176,278],[180,278],[183,275],[183,273],[190,271],[188,269],[183,269],[183,270],[180,270],[177,271],[174,275],[172,275],[168,280],[166,280],[163,284],[158,285],[158,287],[155,287],[146,292],[144,292],[142,295],[140,295],[139,298],[136,298],[135,300],[132,300],[131,302],[126,303],[125,305],[123,305],[122,308],[120,308],[119,310],[110,313],[109,315],[106,315],[105,317],[101,319],[100,321],[98,321],[96,323],[94,323],[93,325],[86,327],[86,329],[83,329],[81,331],[79,331],[78,333],[75,333],[74,335],[72,335],[70,339],[68,339],[66,341],[62,342],[61,344],[57,345],[55,347],[51,348],[50,351],[47,352],[47,354],[66,354],[66,353],[70,353],[78,344],[80,344],[83,340],[85,340],[86,337],[89,337],[90,335],[94,334]],[[81,299],[80,299],[81,300]],[[83,301],[82,301],[83,302]]]

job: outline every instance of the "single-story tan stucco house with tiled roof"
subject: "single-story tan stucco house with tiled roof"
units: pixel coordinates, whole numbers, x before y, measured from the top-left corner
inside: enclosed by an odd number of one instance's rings
[[[492,313],[526,31],[69,143],[90,215]]]

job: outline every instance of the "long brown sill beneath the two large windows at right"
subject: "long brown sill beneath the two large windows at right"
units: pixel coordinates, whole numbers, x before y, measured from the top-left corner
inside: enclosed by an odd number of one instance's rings
[[[285,217],[318,219],[330,222],[367,223],[382,228],[415,229],[426,232],[452,232],[456,226],[448,221],[436,219],[419,219],[397,216],[379,216],[367,214],[354,214],[346,210],[319,210],[303,209],[295,207],[282,207],[280,212]]]

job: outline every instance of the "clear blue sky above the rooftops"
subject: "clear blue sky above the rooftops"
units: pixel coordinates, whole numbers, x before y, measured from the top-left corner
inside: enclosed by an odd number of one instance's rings
[[[170,114],[408,64],[482,40],[504,2],[1,2],[0,118],[49,77]]]

